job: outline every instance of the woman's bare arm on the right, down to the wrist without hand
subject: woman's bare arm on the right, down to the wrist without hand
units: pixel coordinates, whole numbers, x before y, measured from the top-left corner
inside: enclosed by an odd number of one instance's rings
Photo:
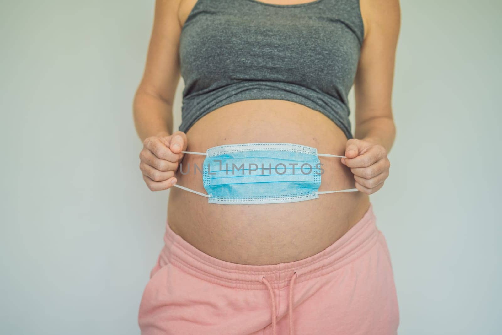
[[[354,81],[355,138],[391,150],[396,129],[392,115],[392,86],[396,46],[401,25],[399,0],[361,0],[365,38]]]

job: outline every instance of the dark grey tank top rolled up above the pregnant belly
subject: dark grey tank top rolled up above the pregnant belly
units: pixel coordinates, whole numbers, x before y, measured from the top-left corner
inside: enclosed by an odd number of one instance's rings
[[[179,129],[232,102],[279,99],[321,112],[351,139],[347,95],[362,40],[358,0],[198,0],[180,37]]]

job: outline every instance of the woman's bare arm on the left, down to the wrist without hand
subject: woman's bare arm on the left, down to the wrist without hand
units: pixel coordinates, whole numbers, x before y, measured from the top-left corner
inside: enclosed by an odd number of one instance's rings
[[[142,141],[173,131],[172,106],[180,79],[179,0],[157,0],[145,72],[134,98],[136,131]]]

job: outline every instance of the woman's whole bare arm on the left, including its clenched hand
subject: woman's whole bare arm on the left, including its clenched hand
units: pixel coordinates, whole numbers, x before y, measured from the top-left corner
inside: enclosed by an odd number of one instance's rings
[[[134,98],[136,131],[143,141],[140,170],[152,191],[174,185],[182,150],[183,132],[173,133],[173,100],[180,79],[178,19],[180,0],[157,0],[145,72]]]

